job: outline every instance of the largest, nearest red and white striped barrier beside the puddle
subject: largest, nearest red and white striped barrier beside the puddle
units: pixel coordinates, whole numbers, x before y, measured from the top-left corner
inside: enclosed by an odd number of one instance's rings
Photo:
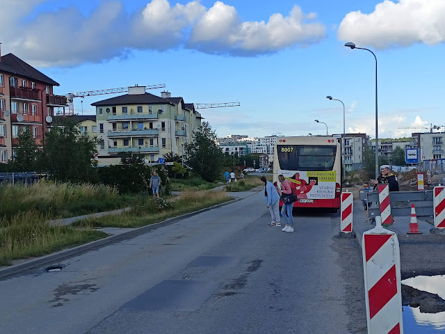
[[[376,226],[363,234],[363,271],[369,334],[403,334],[401,259],[397,234]]]

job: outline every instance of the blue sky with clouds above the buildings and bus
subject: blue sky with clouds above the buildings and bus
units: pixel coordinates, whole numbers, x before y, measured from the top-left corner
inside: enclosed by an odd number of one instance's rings
[[[445,125],[445,0],[0,0],[1,54],[60,83],[55,93],[165,84],[218,136],[375,136]],[[27,8],[27,9],[25,9]],[[161,90],[150,93],[161,94]],[[113,95],[75,99],[75,112]],[[83,101],[83,102],[81,102]],[[424,129],[425,131],[428,131]]]

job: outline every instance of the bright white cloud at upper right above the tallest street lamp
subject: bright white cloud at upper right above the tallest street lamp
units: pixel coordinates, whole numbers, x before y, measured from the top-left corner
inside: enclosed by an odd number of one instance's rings
[[[444,0],[385,0],[371,14],[348,13],[339,26],[340,40],[375,49],[436,45],[445,41]]]

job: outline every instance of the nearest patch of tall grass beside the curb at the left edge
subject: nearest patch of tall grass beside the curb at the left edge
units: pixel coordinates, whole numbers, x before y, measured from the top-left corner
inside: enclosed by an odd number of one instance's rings
[[[70,226],[50,226],[49,216],[42,216],[33,210],[15,215],[0,231],[0,266],[10,265],[11,260],[54,253],[67,247],[86,244],[106,237],[106,233]]]

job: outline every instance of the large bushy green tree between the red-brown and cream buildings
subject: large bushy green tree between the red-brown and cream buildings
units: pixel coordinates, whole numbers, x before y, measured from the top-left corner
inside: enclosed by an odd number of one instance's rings
[[[58,181],[93,182],[97,177],[94,159],[96,142],[79,137],[73,120],[56,118],[44,135],[40,163]]]

